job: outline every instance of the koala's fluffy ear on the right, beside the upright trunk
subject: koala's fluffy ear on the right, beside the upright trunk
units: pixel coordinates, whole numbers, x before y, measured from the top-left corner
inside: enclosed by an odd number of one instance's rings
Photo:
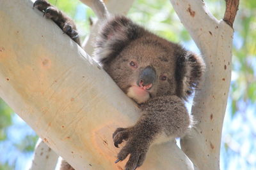
[[[205,63],[202,57],[192,52],[179,57],[177,60],[176,76],[179,87],[177,94],[183,99],[187,99],[197,89],[205,70]]]

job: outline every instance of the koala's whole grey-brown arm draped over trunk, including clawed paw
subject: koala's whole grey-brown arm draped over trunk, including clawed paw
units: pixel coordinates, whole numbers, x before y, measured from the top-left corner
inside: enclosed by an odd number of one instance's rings
[[[154,97],[141,105],[141,108],[142,115],[134,126],[118,128],[113,134],[115,146],[123,140],[127,141],[116,160],[124,160],[131,154],[126,169],[141,166],[148,148],[158,138],[180,137],[192,123],[184,102],[177,96]]]

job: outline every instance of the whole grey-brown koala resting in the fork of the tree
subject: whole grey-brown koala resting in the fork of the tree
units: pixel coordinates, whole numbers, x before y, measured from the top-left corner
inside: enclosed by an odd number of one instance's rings
[[[45,0],[35,1],[34,7],[80,45],[70,18]],[[93,56],[141,110],[136,124],[113,132],[116,147],[127,141],[115,163],[130,155],[125,169],[136,169],[154,143],[182,137],[189,131],[193,119],[184,101],[202,81],[205,68],[202,57],[123,15],[108,17],[102,24]],[[72,169],[67,162],[64,167]]]

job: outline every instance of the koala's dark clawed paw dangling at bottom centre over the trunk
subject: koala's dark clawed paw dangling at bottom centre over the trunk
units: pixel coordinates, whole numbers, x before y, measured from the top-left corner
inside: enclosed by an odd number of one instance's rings
[[[115,163],[124,160],[129,154],[130,158],[125,165],[125,170],[134,170],[140,167],[145,160],[148,151],[148,142],[143,136],[136,135],[132,128],[118,128],[113,133],[113,140],[116,147],[122,143],[123,140],[127,141],[126,145],[117,155]]]

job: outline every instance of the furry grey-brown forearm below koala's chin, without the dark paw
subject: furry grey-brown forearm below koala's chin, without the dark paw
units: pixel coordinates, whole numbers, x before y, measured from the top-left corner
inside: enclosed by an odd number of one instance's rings
[[[184,101],[177,96],[154,97],[143,104],[142,108],[143,115],[139,122],[143,119],[149,121],[157,129],[156,134],[164,132],[166,136],[178,138],[192,124]]]

